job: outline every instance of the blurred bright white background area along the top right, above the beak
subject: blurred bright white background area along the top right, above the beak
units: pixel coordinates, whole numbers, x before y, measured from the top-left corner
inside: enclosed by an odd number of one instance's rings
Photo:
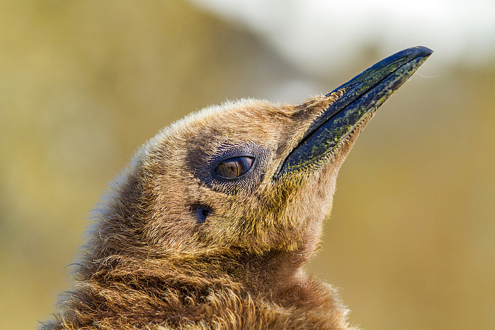
[[[407,47],[430,47],[436,66],[495,59],[494,0],[191,1],[245,26],[314,73],[335,70],[336,61],[345,68],[367,45],[378,46],[383,57]]]

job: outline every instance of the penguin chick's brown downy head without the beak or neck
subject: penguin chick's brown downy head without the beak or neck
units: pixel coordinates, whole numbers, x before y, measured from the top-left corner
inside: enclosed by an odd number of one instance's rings
[[[138,169],[146,178],[147,238],[195,253],[262,254],[316,242],[358,129],[320,166],[289,173],[282,166],[335,99],[318,96],[298,106],[226,102],[158,134]]]

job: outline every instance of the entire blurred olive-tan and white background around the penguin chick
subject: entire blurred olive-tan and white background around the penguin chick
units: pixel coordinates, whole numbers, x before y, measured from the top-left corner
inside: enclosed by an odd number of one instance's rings
[[[160,128],[417,45],[435,53],[358,139],[308,268],[363,329],[495,329],[495,5],[461,0],[1,1],[0,329],[49,318],[88,212]]]

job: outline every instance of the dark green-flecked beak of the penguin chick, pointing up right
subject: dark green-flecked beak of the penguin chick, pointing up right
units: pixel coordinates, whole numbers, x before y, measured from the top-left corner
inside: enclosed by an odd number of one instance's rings
[[[378,109],[432,53],[427,47],[401,50],[327,94],[344,92],[303,134],[282,162],[279,176],[326,162],[359,123]]]

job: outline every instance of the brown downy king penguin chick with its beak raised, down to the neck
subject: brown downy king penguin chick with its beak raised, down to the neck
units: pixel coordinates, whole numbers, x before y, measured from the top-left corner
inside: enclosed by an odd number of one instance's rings
[[[163,129],[113,182],[42,329],[355,329],[303,266],[360,131],[431,53],[299,105],[243,99]]]

